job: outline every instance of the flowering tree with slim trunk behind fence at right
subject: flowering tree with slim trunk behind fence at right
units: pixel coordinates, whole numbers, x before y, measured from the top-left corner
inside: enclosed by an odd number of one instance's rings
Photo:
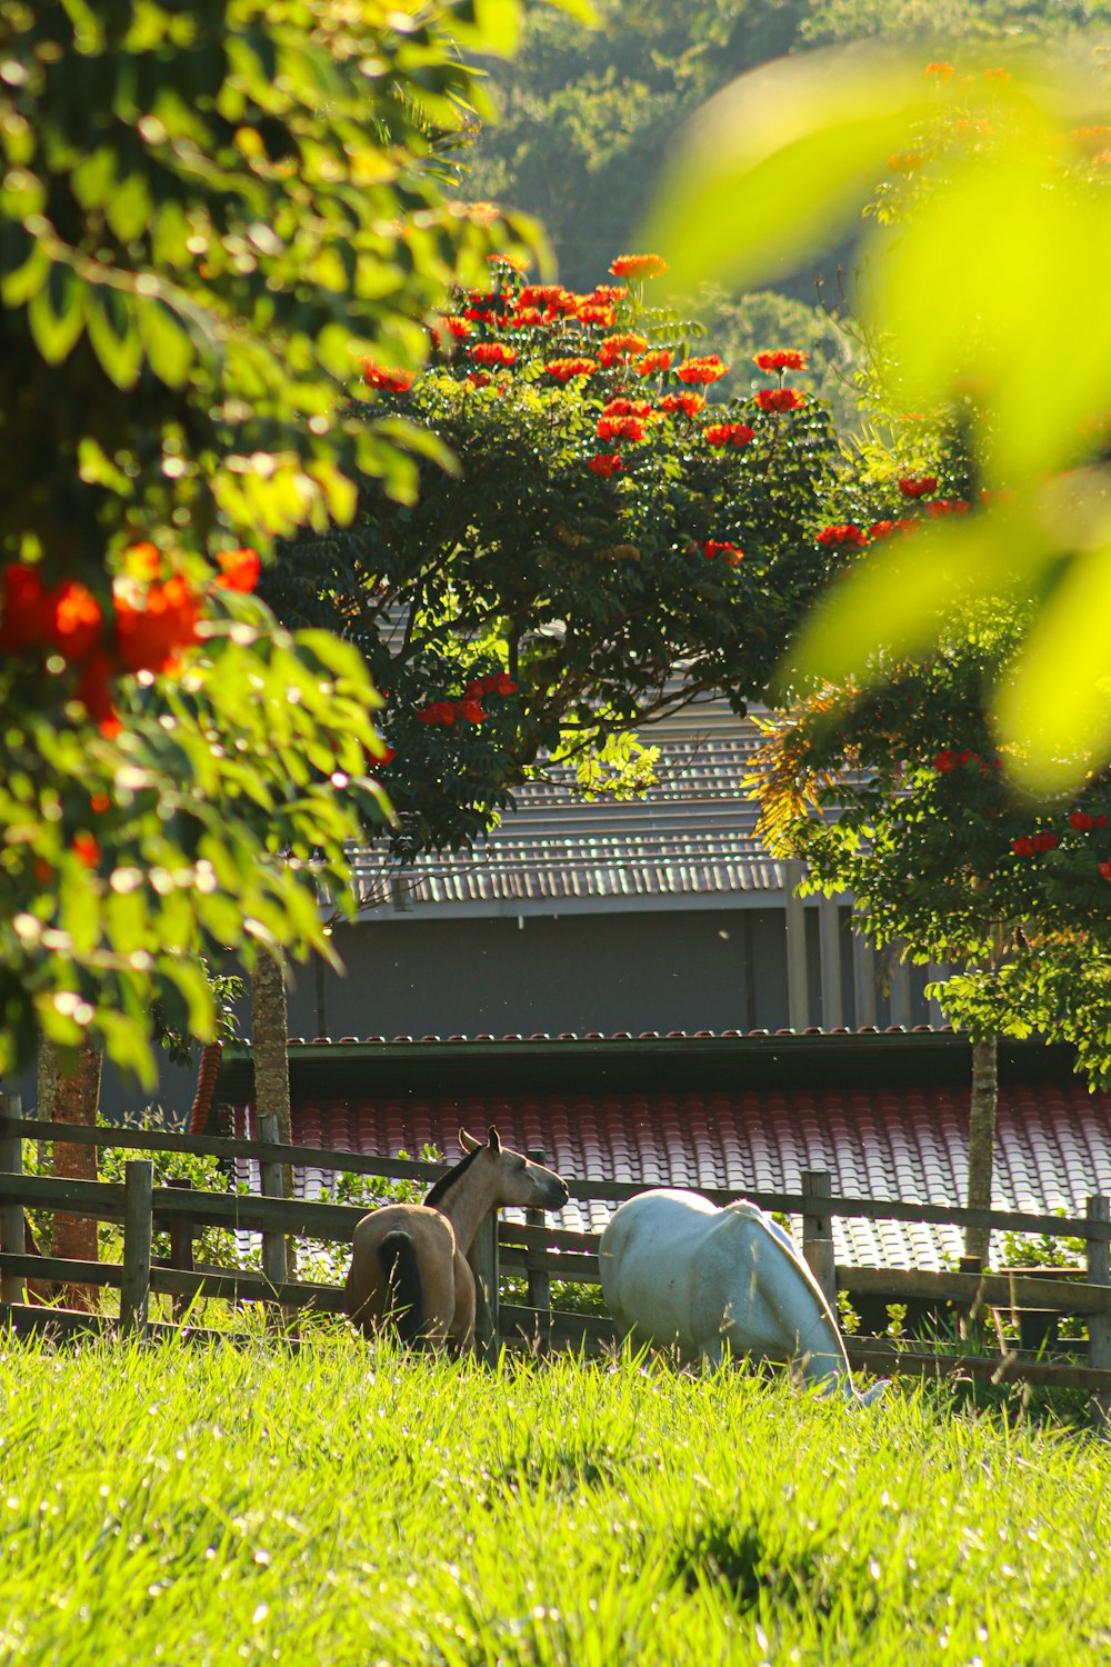
[[[1093,1082],[1111,1077],[1111,772],[1068,800],[1014,797],[981,692],[1024,628],[981,607],[929,660],[884,667],[883,687],[813,695],[751,778],[765,835],[806,859],[813,889],[851,890],[876,944],[953,969],[934,994],[973,1042],[969,1207],[991,1204],[999,1035],[1071,1042]],[[969,1230],[968,1254],[988,1239]]]

